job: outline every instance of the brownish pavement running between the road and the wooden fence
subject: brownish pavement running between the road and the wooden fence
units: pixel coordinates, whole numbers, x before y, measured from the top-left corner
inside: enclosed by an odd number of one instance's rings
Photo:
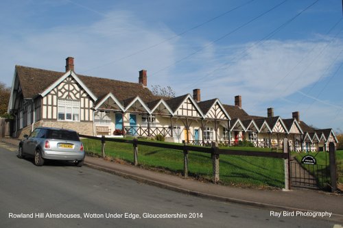
[[[19,144],[19,140],[13,138],[0,138],[0,141],[15,146]],[[86,156],[84,162],[91,168],[198,197],[263,207],[278,212],[331,212],[331,218],[327,219],[338,220],[343,224],[343,195],[338,193],[301,188],[289,191],[236,188],[109,162],[98,157]]]

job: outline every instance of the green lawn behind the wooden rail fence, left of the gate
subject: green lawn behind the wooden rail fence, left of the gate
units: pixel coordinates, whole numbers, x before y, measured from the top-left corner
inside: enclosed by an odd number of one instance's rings
[[[88,153],[101,154],[101,142],[99,140],[82,139],[82,142],[84,142],[84,149]],[[270,149],[254,147],[230,147],[230,149],[270,151]],[[139,145],[138,150],[140,166],[182,175],[182,151],[143,145]],[[106,142],[106,156],[132,163],[132,144],[108,141]],[[210,181],[212,178],[211,154],[189,151],[188,169],[190,177]],[[220,181],[224,185],[283,188],[283,160],[267,157],[220,155]]]

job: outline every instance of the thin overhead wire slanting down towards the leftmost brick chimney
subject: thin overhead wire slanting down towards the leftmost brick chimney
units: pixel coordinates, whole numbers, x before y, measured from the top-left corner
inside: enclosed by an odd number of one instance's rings
[[[169,40],[173,40],[174,38],[177,38],[177,37],[179,37],[179,36],[182,36],[182,35],[184,35],[184,34],[187,34],[187,32],[189,32],[189,31],[192,31],[192,30],[194,30],[194,29],[198,29],[198,27],[202,27],[203,25],[206,25],[206,24],[208,24],[208,23],[211,23],[212,21],[215,21],[217,18],[220,18],[220,17],[225,16],[226,14],[228,14],[228,13],[230,13],[230,12],[233,12],[233,11],[235,11],[235,10],[238,10],[239,8],[242,8],[242,7],[244,7],[245,5],[248,5],[248,4],[252,3],[252,1],[255,1],[255,0],[250,0],[250,1],[247,1],[246,3],[243,3],[243,4],[241,4],[241,5],[238,5],[238,6],[236,6],[235,8],[233,8],[233,9],[231,9],[231,10],[228,10],[228,11],[226,11],[226,12],[224,12],[224,13],[218,15],[218,16],[215,16],[215,17],[213,17],[213,18],[210,18],[209,20],[204,21],[203,23],[200,23],[200,24],[198,24],[198,25],[196,25],[196,26],[194,26],[194,27],[191,27],[191,28],[189,28],[189,29],[186,29],[185,31],[180,32],[179,34],[176,34],[176,35],[174,35],[174,36],[171,36],[170,38],[167,38],[167,39],[165,39],[165,40],[163,40],[163,41],[161,41],[161,42],[158,42],[158,43],[156,43],[156,44],[154,44],[154,45],[151,45],[151,46],[149,46],[149,47],[145,47],[144,49],[141,49],[141,50],[139,50],[139,51],[130,53],[130,54],[125,55],[125,56],[123,56],[123,57],[121,57],[121,58],[118,58],[118,59],[116,59],[116,60],[113,60],[113,61],[110,61],[110,62],[106,62],[105,64],[102,64],[102,65],[99,65],[99,66],[95,66],[95,67],[93,67],[93,68],[89,68],[88,70],[82,71],[81,73],[86,73],[86,72],[88,72],[88,71],[93,71],[93,70],[95,70],[95,69],[97,69],[97,68],[102,68],[102,67],[104,67],[104,66],[113,64],[113,63],[115,63],[115,62],[119,62],[119,61],[121,61],[121,60],[125,60],[125,59],[127,59],[127,58],[132,57],[133,55],[137,55],[137,54],[139,54],[139,53],[142,53],[142,52],[144,52],[144,51],[147,51],[147,50],[149,50],[149,49],[152,49],[152,48],[154,48],[154,47],[157,47],[158,45],[162,45],[163,43],[168,42]],[[71,1],[70,1],[70,2],[71,2]],[[71,3],[73,3],[73,2],[71,2]],[[79,4],[78,4],[78,5],[79,5]],[[80,5],[80,6],[83,7],[83,8],[85,8],[85,7],[82,6],[82,5]]]

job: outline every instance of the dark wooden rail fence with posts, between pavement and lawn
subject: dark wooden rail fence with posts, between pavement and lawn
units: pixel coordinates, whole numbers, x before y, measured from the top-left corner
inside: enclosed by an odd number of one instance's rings
[[[217,142],[212,143],[212,147],[197,147],[191,146],[187,144],[185,141],[183,144],[166,144],[163,142],[147,142],[141,141],[134,138],[133,140],[125,140],[119,138],[102,138],[95,137],[95,136],[85,136],[79,135],[82,138],[90,138],[93,140],[101,140],[102,141],[102,156],[105,157],[105,143],[108,142],[122,142],[122,143],[130,143],[133,145],[133,156],[134,156],[134,166],[139,164],[139,147],[138,145],[150,146],[150,147],[158,147],[163,149],[176,149],[183,151],[184,154],[184,170],[183,176],[188,176],[188,153],[189,151],[195,151],[199,153],[210,153],[212,164],[213,164],[213,182],[217,183],[220,180],[220,173],[219,173],[219,158],[220,155],[244,155],[244,156],[255,156],[255,157],[274,157],[285,160],[285,190],[289,190],[289,150],[288,147],[283,147],[283,153],[277,152],[263,152],[263,151],[240,151],[240,150],[232,150],[232,149],[220,149],[218,147]],[[287,139],[285,138],[284,141],[287,145]],[[287,166],[287,167],[286,167]]]

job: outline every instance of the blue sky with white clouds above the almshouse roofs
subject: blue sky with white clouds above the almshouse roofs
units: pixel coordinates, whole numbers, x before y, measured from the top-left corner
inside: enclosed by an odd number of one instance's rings
[[[343,14],[338,0],[4,0],[0,81],[14,66],[200,88],[202,101],[343,131]]]

